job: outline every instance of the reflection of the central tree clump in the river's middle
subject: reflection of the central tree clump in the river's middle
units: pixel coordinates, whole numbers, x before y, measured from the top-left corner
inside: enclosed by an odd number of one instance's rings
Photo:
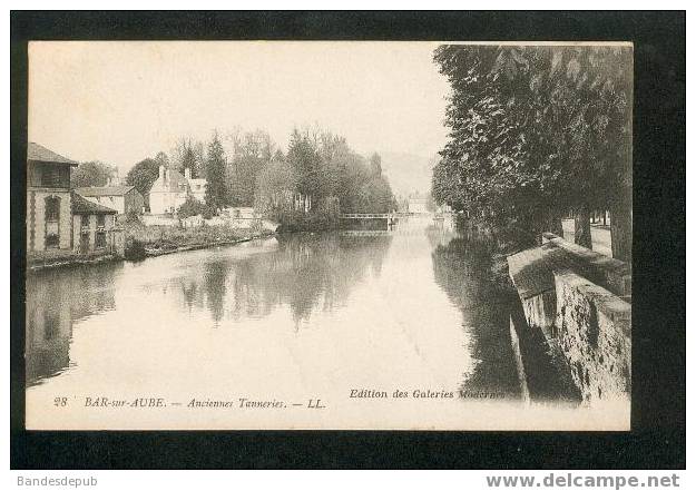
[[[218,325],[269,315],[288,305],[295,326],[320,308],[345,303],[351,287],[370,272],[379,277],[391,236],[295,234],[272,239],[275,247],[244,257],[208,259],[203,276],[190,268],[173,279],[189,310],[204,306]]]

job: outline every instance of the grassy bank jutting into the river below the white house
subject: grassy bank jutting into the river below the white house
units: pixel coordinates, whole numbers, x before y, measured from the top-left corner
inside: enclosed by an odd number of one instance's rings
[[[122,224],[126,232],[126,258],[140,259],[179,251],[192,251],[215,245],[235,244],[272,235],[259,228],[209,226],[182,228],[168,225]]]

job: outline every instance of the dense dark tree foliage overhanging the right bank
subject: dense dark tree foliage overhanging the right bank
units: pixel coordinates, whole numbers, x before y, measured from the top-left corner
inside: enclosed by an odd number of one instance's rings
[[[442,46],[434,61],[452,88],[438,203],[531,235],[630,209],[629,48]]]

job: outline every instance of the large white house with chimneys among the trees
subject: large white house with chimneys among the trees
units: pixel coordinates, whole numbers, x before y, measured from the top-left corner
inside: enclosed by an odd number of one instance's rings
[[[150,213],[154,215],[175,213],[186,203],[188,196],[205,202],[206,186],[206,179],[190,177],[190,169],[185,169],[183,176],[178,170],[160,166],[159,176],[149,192]]]

